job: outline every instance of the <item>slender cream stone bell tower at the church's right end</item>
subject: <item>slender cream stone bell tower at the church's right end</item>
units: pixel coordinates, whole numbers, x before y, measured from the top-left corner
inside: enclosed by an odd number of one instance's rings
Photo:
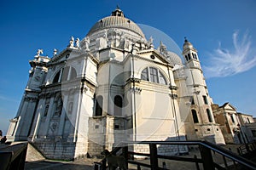
[[[220,127],[214,121],[212,99],[201,69],[197,50],[186,38],[183,44],[183,57],[187,71],[187,87],[190,94],[190,111],[186,119],[188,139],[207,139],[215,144],[224,144]]]

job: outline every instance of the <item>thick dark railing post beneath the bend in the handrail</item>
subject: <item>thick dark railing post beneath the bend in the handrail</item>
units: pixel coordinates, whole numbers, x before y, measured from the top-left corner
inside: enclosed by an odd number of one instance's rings
[[[202,164],[205,170],[214,170],[212,153],[211,150],[205,146],[199,145],[199,149],[201,152]]]

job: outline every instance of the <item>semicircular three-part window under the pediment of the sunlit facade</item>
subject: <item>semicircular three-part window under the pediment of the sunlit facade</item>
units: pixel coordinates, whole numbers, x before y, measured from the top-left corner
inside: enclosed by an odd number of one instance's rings
[[[157,68],[147,67],[142,71],[141,75],[142,80],[148,82],[156,82],[160,84],[167,84],[166,77],[164,74]]]

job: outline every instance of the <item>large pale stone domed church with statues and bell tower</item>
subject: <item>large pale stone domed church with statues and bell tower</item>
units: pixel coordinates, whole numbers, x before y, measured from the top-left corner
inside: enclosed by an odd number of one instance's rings
[[[235,132],[224,134],[216,121],[221,108],[232,105],[212,104],[200,56],[187,39],[182,54],[163,42],[154,48],[116,8],[51,58],[38,50],[7,139],[27,140],[44,156],[67,160],[100,155],[122,141],[236,143]]]

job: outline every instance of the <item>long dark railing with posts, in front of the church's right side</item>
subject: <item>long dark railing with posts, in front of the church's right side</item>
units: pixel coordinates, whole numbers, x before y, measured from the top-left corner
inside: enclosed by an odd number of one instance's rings
[[[149,146],[149,153],[138,153],[133,151],[128,151],[129,147],[132,147],[132,144],[147,144]],[[170,160],[174,161],[189,161],[195,164],[195,168],[197,170],[205,169],[205,170],[213,170],[213,169],[255,169],[256,164],[253,161],[249,161],[241,156],[238,156],[229,150],[224,150],[222,147],[211,144],[207,141],[143,141],[140,143],[136,142],[126,142],[122,145],[126,145],[124,147],[114,148],[111,151],[111,154],[116,154],[119,150],[122,149],[122,156],[125,156],[127,160],[127,164],[137,165],[137,169],[141,169],[141,167],[149,167],[152,170],[157,169],[167,169],[166,162]],[[195,146],[199,148],[199,152],[201,156],[166,156],[158,154],[158,147],[163,145],[172,145],[172,146],[185,146],[191,147]],[[216,156],[218,155],[218,159],[222,159],[222,163],[216,161]],[[145,163],[142,161],[136,161],[132,159],[128,159],[128,157],[133,156],[145,156],[149,157],[149,163]],[[159,162],[162,161],[162,166],[160,167]],[[101,162],[95,162],[95,170],[105,170],[106,169],[106,158],[104,158]]]

